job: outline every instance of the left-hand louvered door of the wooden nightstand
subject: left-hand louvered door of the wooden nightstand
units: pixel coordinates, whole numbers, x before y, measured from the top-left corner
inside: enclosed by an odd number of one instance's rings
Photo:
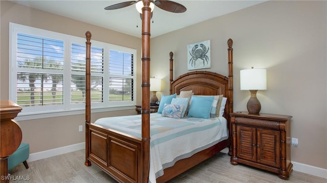
[[[237,156],[242,159],[256,161],[255,128],[237,126]]]

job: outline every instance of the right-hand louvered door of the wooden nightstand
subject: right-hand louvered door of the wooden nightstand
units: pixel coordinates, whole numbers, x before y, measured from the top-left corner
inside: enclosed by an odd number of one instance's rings
[[[281,165],[280,133],[269,129],[256,129],[258,156],[256,162],[279,168]]]

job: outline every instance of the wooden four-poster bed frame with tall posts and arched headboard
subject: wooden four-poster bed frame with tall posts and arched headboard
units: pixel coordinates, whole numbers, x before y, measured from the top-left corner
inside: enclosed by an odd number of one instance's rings
[[[90,122],[90,50],[91,34],[86,32],[86,107],[85,107],[85,165],[97,165],[113,179],[119,182],[149,182],[150,170],[150,8],[149,1],[144,0],[142,27],[142,114],[135,115],[142,121],[139,136],[120,132],[115,128]],[[182,91],[190,91],[194,95],[223,95],[227,98],[223,117],[226,119],[226,137],[212,144],[204,144],[205,148],[195,151],[187,158],[180,159],[173,165],[162,169],[156,182],[166,182],[180,173],[210,158],[224,148],[231,152],[231,126],[229,113],[233,107],[233,67],[232,40],[228,44],[228,76],[211,71],[194,71],[185,73],[173,80],[173,53],[170,55],[170,94],[179,95]],[[156,113],[152,113],[154,115]],[[188,118],[188,117],[186,117]],[[212,119],[212,118],[210,118]],[[154,122],[154,121],[153,121]],[[151,124],[150,124],[151,123]],[[152,126],[151,126],[152,128]],[[203,137],[203,136],[202,136]],[[202,138],[201,137],[201,138]],[[201,139],[198,138],[198,139]],[[170,152],[171,149],[167,149]],[[162,152],[166,153],[166,152]],[[152,159],[151,163],[155,160]],[[152,164],[151,164],[152,166]],[[156,172],[155,172],[156,173]],[[151,175],[151,176],[150,176]],[[150,178],[149,178],[150,176]],[[152,181],[153,182],[153,181]]]

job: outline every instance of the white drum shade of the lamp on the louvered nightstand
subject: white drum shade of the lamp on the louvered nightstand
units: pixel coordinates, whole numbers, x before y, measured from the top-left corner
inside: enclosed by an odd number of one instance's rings
[[[266,90],[266,69],[244,69],[240,71],[241,90]]]

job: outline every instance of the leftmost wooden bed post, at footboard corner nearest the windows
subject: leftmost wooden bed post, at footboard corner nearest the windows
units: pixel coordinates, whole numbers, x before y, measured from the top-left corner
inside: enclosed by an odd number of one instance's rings
[[[91,119],[91,33],[87,31],[86,36],[86,71],[85,71],[85,165],[91,166],[88,160],[89,153],[89,126]]]

